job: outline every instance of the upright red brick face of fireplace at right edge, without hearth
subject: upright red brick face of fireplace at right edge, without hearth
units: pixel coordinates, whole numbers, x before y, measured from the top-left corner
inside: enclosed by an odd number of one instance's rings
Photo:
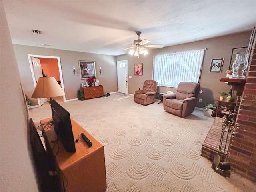
[[[238,136],[232,138],[228,159],[232,171],[256,181],[256,37],[251,38],[251,53],[236,123]],[[249,47],[250,48],[250,47]]]

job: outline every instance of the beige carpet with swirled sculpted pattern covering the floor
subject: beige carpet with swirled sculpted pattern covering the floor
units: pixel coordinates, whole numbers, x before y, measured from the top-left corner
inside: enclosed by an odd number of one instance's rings
[[[224,178],[200,156],[214,118],[202,110],[180,118],[163,104],[142,106],[124,94],[85,101],[58,101],[105,149],[106,192],[250,192],[253,182],[238,174]],[[39,124],[50,105],[30,109]],[[76,136],[75,136],[76,137]],[[86,179],[86,178],[85,178]]]

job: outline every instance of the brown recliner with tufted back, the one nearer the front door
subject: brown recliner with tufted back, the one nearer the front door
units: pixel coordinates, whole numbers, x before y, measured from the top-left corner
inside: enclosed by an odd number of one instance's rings
[[[142,90],[135,91],[134,102],[148,105],[155,102],[157,82],[154,80],[146,80]]]

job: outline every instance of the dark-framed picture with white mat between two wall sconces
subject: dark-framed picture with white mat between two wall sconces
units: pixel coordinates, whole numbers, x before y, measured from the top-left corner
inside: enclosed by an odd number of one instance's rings
[[[90,77],[96,78],[95,62],[79,60],[79,70],[81,79],[88,79]]]

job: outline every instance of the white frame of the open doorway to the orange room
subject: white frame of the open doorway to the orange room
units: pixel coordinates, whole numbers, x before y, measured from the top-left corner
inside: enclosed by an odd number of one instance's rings
[[[31,55],[31,54],[28,54],[28,61],[29,61],[29,65],[30,65],[30,69],[31,69],[31,73],[32,73],[32,78],[33,78],[33,82],[34,82],[34,86],[35,86],[35,87],[36,87],[36,78],[35,78],[34,69],[33,69],[33,66],[32,66],[32,59],[31,59],[32,57],[49,58],[49,59],[57,59],[57,60],[58,60],[58,67],[59,67],[59,73],[60,73],[61,88],[62,88],[62,90],[65,92],[65,89],[64,89],[64,82],[63,82],[63,77],[62,77],[62,70],[61,70],[60,57],[56,57],[56,56],[46,56],[46,55]],[[41,106],[40,100],[37,99],[37,101],[38,101],[38,105]],[[66,102],[66,95],[63,96],[63,101]]]

